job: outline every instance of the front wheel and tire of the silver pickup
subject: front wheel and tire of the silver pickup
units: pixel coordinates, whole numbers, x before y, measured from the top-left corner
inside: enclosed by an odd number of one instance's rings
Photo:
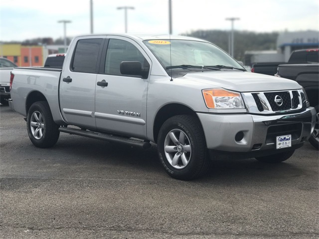
[[[166,173],[176,179],[195,179],[209,168],[204,132],[194,116],[174,116],[163,123],[158,153]]]

